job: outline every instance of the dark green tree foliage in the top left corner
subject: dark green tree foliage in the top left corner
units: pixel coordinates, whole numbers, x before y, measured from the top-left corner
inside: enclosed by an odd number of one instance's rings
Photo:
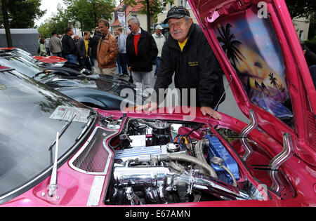
[[[41,11],[41,0],[4,0],[8,6],[11,28],[31,28],[34,27],[34,20],[41,18],[45,11]],[[2,5],[1,1],[1,5]],[[1,19],[1,26],[3,20]]]

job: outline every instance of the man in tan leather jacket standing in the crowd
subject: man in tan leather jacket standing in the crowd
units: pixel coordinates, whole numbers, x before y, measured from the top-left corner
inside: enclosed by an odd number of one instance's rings
[[[117,40],[109,31],[110,24],[107,20],[99,20],[99,29],[102,37],[98,43],[97,60],[100,74],[114,75],[117,67]]]

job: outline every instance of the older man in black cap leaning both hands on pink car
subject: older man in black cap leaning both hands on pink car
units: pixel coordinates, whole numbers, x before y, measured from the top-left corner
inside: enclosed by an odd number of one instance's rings
[[[193,24],[190,13],[182,6],[174,6],[167,14],[164,23],[169,23],[172,37],[166,40],[162,49],[162,60],[154,85],[156,94],[160,88],[166,89],[172,83],[175,73],[175,86],[180,89],[181,105],[201,107],[202,114],[212,114],[214,119],[221,119],[213,111],[224,93],[223,75],[217,70],[216,57],[209,46],[202,29]],[[185,90],[183,90],[185,89]],[[190,100],[192,92],[195,98]],[[181,93],[183,92],[183,93]],[[187,96],[187,103],[183,102]],[[152,96],[152,102],[138,109],[157,109],[158,99]]]

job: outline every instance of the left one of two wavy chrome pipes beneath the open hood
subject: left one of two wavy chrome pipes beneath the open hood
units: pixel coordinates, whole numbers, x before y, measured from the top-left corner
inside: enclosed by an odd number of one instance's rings
[[[251,145],[249,145],[249,142],[247,141],[246,136],[249,135],[251,130],[254,130],[258,126],[258,119],[253,109],[249,110],[249,116],[250,116],[250,123],[248,124],[248,126],[246,126],[242,130],[240,134],[242,138],[239,139],[242,145],[244,146],[244,148],[246,149],[246,152],[244,152],[244,156],[242,156],[243,161],[246,161],[247,159],[249,159],[249,156],[251,156],[251,154],[254,152],[251,148]]]

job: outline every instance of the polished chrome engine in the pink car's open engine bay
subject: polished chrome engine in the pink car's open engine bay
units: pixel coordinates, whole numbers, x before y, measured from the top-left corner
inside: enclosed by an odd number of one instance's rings
[[[130,127],[135,128],[129,130]],[[172,127],[174,130],[175,125]],[[234,177],[231,183],[219,178],[223,168],[230,172],[226,167],[229,163],[205,151],[209,147],[208,139],[195,142],[193,154],[194,142],[175,142],[171,132],[171,123],[162,121],[136,119],[126,124],[118,147],[126,143],[129,147],[117,148],[115,152],[107,203],[141,205],[260,197],[251,194],[249,189],[237,187]],[[227,174],[234,176],[231,172]]]

